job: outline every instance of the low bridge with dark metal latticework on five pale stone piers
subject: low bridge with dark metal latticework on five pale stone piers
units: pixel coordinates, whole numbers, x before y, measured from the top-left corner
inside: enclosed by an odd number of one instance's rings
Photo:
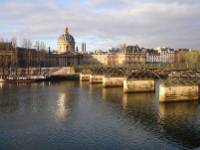
[[[80,80],[102,84],[104,88],[122,87],[124,93],[158,92],[161,103],[200,98],[200,72],[194,70],[97,67],[91,69],[90,73],[80,74]],[[157,88],[156,80],[161,83]],[[173,80],[174,83],[171,82]]]

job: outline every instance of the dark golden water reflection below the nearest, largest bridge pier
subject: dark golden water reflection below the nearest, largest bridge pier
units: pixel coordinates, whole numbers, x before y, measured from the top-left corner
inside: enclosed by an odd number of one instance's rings
[[[164,103],[159,105],[159,128],[169,139],[187,145],[200,146],[198,102]],[[188,138],[189,137],[189,138]]]

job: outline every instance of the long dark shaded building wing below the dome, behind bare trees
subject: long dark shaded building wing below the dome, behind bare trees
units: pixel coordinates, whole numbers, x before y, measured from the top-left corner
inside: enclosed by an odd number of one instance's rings
[[[57,54],[36,49],[17,48],[18,67],[64,67],[79,65],[82,55],[77,53]]]

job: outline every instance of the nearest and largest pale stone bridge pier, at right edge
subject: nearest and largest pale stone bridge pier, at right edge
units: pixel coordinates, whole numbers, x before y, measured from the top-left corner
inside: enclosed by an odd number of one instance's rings
[[[159,102],[192,101],[199,99],[198,85],[159,86]]]

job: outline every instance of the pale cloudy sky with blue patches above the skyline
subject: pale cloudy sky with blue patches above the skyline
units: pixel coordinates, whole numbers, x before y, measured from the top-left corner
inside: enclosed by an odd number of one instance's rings
[[[0,38],[56,48],[65,26],[89,50],[123,43],[200,49],[200,1],[0,0]]]

